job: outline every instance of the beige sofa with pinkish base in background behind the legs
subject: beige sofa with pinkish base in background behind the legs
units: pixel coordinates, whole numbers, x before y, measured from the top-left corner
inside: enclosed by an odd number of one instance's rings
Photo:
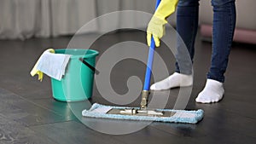
[[[210,0],[201,0],[201,36],[212,37],[212,6]],[[234,41],[256,44],[256,1],[236,0],[236,30]]]

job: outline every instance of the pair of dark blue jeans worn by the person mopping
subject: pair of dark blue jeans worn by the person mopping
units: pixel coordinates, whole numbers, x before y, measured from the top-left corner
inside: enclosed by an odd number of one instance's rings
[[[192,61],[195,54],[198,9],[199,0],[179,0],[177,4],[177,33],[183,39]],[[235,0],[212,0],[212,10],[212,61],[207,78],[224,83],[224,72],[228,65],[236,26]],[[176,62],[176,72],[184,74],[192,72],[188,68],[184,71],[180,69],[181,66],[178,66]]]

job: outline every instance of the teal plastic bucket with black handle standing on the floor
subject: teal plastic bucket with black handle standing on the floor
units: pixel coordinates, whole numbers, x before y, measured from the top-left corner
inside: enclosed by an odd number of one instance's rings
[[[90,99],[95,74],[91,67],[95,67],[96,55],[99,53],[92,49],[55,49],[55,54],[71,55],[61,81],[51,78],[52,94],[55,100],[84,101]]]

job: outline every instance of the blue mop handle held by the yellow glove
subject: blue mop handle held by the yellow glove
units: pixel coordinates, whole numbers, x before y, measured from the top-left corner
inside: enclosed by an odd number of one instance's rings
[[[156,0],[155,3],[155,10],[157,9],[158,5],[160,4],[161,0]],[[144,81],[144,88],[143,90],[149,90],[149,85],[150,85],[150,78],[151,78],[151,69],[153,66],[153,60],[154,60],[154,38],[153,36],[151,37],[151,43],[149,47],[149,52],[148,52],[148,63],[147,63],[147,70],[146,70],[146,75],[145,75],[145,81]]]

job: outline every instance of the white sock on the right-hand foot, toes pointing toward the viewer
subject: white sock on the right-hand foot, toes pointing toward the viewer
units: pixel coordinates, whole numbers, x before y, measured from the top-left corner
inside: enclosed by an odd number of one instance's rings
[[[223,83],[220,83],[217,80],[207,79],[205,88],[201,91],[201,93],[199,93],[195,101],[201,103],[218,102],[223,98],[223,95]]]

